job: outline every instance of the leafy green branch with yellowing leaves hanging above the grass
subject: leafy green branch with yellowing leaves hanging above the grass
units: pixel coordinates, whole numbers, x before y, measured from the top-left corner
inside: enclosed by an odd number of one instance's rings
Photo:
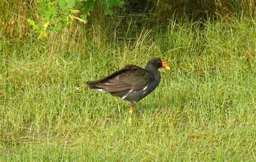
[[[58,33],[64,25],[69,25],[74,19],[87,23],[87,16],[97,4],[103,5],[106,15],[112,15],[113,6],[122,6],[122,0],[39,0],[38,12],[42,21],[38,24],[27,19],[33,31],[38,33],[38,39],[48,36],[48,32]]]

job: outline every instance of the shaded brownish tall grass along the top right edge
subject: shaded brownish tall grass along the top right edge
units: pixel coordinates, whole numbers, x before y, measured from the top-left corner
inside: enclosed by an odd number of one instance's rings
[[[170,19],[173,15],[176,17],[201,19],[208,17],[233,17],[241,14],[255,15],[255,2],[246,1],[228,1],[228,0],[158,0],[154,6],[156,16],[161,19]]]

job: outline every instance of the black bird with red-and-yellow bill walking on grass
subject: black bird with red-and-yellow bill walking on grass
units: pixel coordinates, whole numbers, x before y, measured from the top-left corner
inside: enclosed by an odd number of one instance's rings
[[[170,70],[170,67],[159,57],[152,58],[146,68],[136,65],[126,65],[123,69],[113,72],[111,75],[96,81],[88,81],[86,84],[90,89],[100,92],[109,92],[118,104],[120,114],[119,98],[131,102],[130,114],[134,106],[147,95],[149,95],[160,83],[159,68]]]

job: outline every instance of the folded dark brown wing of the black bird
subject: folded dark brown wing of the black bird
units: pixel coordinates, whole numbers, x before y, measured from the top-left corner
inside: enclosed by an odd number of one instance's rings
[[[95,86],[104,92],[118,92],[128,89],[137,91],[150,84],[152,80],[152,75],[145,69],[136,65],[126,65],[112,75],[98,80]]]

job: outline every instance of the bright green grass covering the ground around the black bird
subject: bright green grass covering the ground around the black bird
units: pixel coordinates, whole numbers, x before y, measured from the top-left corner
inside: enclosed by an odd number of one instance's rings
[[[131,39],[81,30],[61,39],[48,73],[49,42],[2,37],[0,159],[254,161],[255,35],[247,19],[172,21]],[[85,84],[156,56],[171,70],[132,125],[129,102],[119,117]]]

